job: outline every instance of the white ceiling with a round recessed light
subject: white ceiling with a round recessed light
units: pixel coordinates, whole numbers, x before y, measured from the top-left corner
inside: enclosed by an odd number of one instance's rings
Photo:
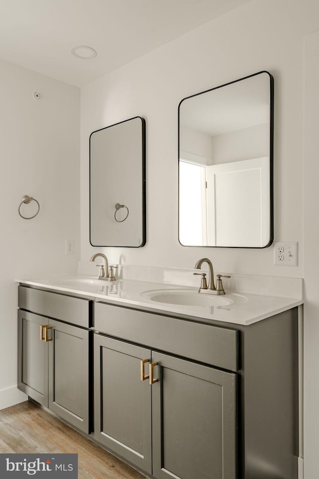
[[[248,1],[0,0],[0,58],[83,86]]]

